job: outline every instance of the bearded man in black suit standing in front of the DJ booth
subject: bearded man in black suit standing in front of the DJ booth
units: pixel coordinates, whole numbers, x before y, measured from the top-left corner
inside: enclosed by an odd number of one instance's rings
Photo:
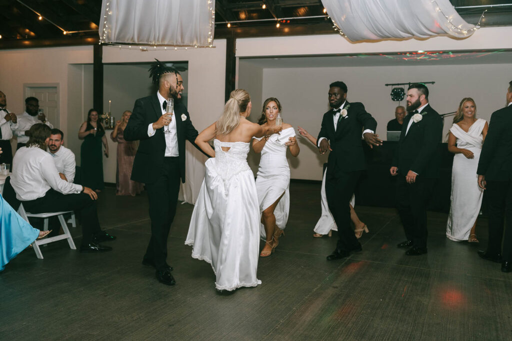
[[[407,111],[391,175],[398,175],[397,206],[407,241],[398,247],[410,248],[406,255],[426,254],[426,206],[435,179],[439,177],[443,121],[429,104],[429,89],[421,83],[407,90]]]

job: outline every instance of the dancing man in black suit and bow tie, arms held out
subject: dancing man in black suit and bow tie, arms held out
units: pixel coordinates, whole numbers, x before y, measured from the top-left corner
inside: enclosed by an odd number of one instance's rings
[[[377,122],[366,112],[365,106],[359,102],[349,103],[346,99],[347,85],[344,82],[329,85],[329,105],[332,109],[324,114],[316,140],[321,154],[331,151],[327,161],[325,190],[329,210],[338,226],[336,248],[327,256],[327,260],[348,257],[350,252],[362,249],[350,227],[349,207],[357,180],[366,169],[361,133],[371,148],[382,145],[375,134]]]

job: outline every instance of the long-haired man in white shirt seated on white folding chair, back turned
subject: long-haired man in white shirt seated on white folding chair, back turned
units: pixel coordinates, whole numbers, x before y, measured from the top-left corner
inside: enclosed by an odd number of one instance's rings
[[[78,211],[82,217],[80,252],[111,251],[112,247],[99,244],[116,237],[100,228],[95,201],[98,195],[88,187],[60,178],[52,156],[46,152],[50,133],[45,124],[34,124],[27,147],[14,155],[11,185],[17,199],[30,213]]]

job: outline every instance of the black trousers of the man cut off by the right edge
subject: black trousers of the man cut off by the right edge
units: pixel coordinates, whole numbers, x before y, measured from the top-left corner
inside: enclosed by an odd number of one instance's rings
[[[510,181],[488,180],[486,188],[489,214],[487,252],[501,253],[504,261],[512,261],[512,186]],[[507,225],[504,228],[505,220]]]

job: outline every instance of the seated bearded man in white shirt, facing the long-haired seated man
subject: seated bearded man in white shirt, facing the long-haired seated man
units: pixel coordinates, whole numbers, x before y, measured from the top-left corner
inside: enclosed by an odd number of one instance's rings
[[[75,179],[75,154],[64,147],[64,133],[57,128],[53,128],[48,140],[48,151],[53,156],[55,167],[59,171],[60,178],[72,183]]]

